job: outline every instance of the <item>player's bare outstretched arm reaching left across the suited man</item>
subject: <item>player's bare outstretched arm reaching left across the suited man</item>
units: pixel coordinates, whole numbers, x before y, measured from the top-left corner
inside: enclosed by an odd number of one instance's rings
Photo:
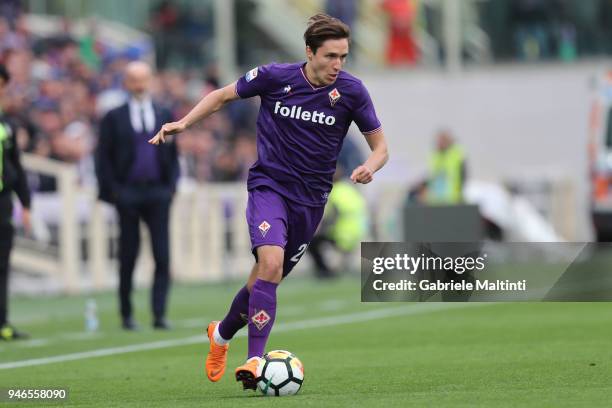
[[[205,117],[215,113],[221,109],[225,104],[233,100],[238,99],[239,96],[236,93],[236,82],[227,85],[221,89],[216,89],[206,95],[196,106],[189,111],[185,117],[177,122],[170,122],[164,124],[159,132],[151,139],[149,143],[159,144],[166,141],[166,136],[174,135],[187,129],[194,123],[204,119]]]

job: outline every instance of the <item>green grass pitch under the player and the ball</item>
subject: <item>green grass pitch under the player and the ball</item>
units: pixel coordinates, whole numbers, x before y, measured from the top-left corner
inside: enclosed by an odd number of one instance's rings
[[[15,406],[610,404],[607,303],[362,304],[359,281],[351,278],[290,277],[278,290],[268,349],[290,350],[303,361],[298,395],[242,391],[232,373],[246,357],[244,333],[232,341],[225,377],[213,384],[203,371],[208,345],[202,333],[209,320],[223,317],[240,286],[175,286],[169,316],[175,328],[169,332],[150,328],[148,290],[135,295],[138,333],[119,329],[114,292],[93,296],[101,320],[94,334],[84,333],[86,297],[15,298],[12,321],[32,339],[0,343],[0,388],[69,389],[65,402]],[[96,350],[104,355],[64,361]],[[54,356],[55,362],[36,364]],[[7,368],[30,360],[36,365]]]

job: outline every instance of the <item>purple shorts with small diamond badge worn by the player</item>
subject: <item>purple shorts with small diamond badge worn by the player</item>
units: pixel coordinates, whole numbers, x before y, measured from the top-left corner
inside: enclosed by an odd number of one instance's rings
[[[306,252],[324,208],[297,204],[268,187],[250,190],[246,216],[255,259],[262,245],[284,248],[283,277],[287,276]]]

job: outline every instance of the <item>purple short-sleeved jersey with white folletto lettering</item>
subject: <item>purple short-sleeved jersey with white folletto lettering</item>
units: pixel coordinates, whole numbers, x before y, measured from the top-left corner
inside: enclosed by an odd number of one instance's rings
[[[380,121],[359,79],[341,71],[334,83],[315,87],[304,70],[303,62],[269,64],[236,84],[241,98],[261,98],[258,159],[249,170],[248,189],[268,186],[300,204],[322,206],[351,122],[368,134],[380,129]]]

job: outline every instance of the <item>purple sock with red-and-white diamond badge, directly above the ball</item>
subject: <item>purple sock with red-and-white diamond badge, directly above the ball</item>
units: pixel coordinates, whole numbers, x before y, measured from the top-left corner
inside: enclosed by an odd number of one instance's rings
[[[257,279],[249,298],[249,358],[261,357],[276,317],[278,283]]]

